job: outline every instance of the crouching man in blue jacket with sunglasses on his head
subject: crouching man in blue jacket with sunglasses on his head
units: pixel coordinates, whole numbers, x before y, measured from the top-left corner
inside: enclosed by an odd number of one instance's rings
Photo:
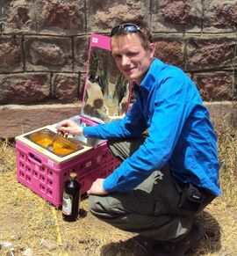
[[[111,53],[118,69],[133,80],[132,108],[120,121],[86,128],[62,121],[59,131],[107,139],[122,161],[90,187],[93,215],[159,241],[154,255],[184,255],[204,237],[193,217],[220,194],[209,113],[190,77],[154,58],[146,25],[115,26]]]

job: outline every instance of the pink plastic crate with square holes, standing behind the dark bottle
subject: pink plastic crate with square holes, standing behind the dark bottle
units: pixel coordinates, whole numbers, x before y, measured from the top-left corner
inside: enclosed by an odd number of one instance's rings
[[[70,172],[77,173],[82,194],[85,194],[94,180],[107,177],[120,164],[106,143],[62,164],[19,141],[16,149],[18,181],[56,207],[61,207],[63,186]]]

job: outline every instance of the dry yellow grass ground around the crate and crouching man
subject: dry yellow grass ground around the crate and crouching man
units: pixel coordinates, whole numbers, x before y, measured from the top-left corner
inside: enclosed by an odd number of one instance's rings
[[[197,216],[206,236],[189,255],[237,255],[237,131],[219,127],[217,132],[223,194]],[[149,255],[148,240],[98,221],[88,212],[87,199],[81,208],[85,217],[63,222],[61,210],[18,183],[15,148],[0,142],[1,255]],[[3,242],[12,245],[1,249]]]

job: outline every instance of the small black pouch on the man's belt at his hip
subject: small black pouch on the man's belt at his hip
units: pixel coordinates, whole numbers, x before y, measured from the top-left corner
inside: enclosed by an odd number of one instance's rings
[[[179,207],[192,212],[197,212],[204,200],[205,195],[202,194],[197,187],[187,183],[185,187],[183,187]]]

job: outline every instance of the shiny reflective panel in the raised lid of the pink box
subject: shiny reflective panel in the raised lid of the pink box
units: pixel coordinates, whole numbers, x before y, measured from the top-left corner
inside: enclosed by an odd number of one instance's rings
[[[109,42],[104,36],[98,40]],[[129,83],[118,70],[108,46],[92,46],[82,114],[96,117],[99,122],[120,118],[126,113],[129,94]]]

